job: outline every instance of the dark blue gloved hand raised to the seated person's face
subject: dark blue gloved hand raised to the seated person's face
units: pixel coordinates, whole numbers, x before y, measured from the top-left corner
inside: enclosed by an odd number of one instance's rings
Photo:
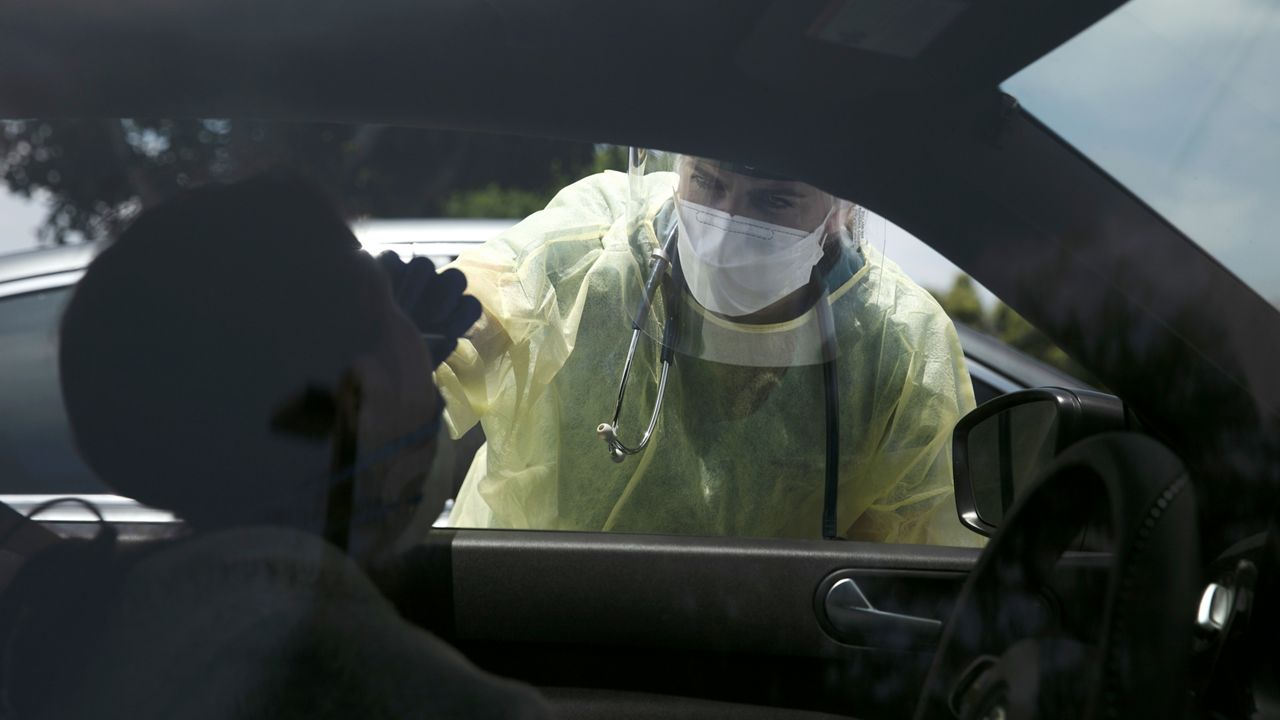
[[[396,302],[422,332],[438,368],[480,319],[480,301],[462,295],[467,278],[453,269],[436,273],[435,263],[426,258],[404,263],[390,250],[378,256],[378,264],[392,281]]]

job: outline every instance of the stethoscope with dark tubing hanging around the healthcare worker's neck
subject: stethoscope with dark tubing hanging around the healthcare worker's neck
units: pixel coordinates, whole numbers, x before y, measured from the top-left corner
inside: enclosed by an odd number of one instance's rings
[[[657,293],[659,288],[664,287],[671,279],[671,266],[676,247],[677,229],[678,225],[672,223],[671,231],[667,233],[662,245],[655,247],[653,252],[649,254],[649,277],[644,283],[640,304],[636,307],[635,318],[631,322],[631,345],[627,348],[627,359],[622,364],[622,380],[618,383],[618,400],[613,406],[613,418],[608,423],[600,423],[595,427],[595,433],[608,446],[609,457],[614,462],[622,462],[628,455],[636,455],[649,445],[649,441],[653,439],[653,432],[658,425],[658,415],[662,413],[662,400],[667,395],[667,377],[671,373],[671,365],[675,361],[675,346],[680,333],[680,322],[676,313],[677,302],[673,302],[673,297],[666,299],[667,311],[662,331],[662,350],[659,354],[662,369],[658,375],[658,396],[653,404],[653,413],[649,415],[649,427],[645,428],[644,434],[640,437],[640,442],[637,442],[635,447],[630,447],[618,439],[618,420],[622,416],[622,402],[626,398],[627,379],[631,377],[631,365],[635,361],[636,347],[640,343],[640,334],[643,332],[641,328],[644,327],[645,318],[649,316],[649,311],[653,309],[654,293]],[[822,334],[823,415],[827,430],[826,477],[823,483],[822,502],[822,537],[824,539],[835,539],[838,537],[836,525],[836,500],[840,488],[840,379],[836,375],[836,322],[831,313],[831,301],[827,296],[826,288],[822,290],[822,295],[815,304],[815,313],[818,328]]]

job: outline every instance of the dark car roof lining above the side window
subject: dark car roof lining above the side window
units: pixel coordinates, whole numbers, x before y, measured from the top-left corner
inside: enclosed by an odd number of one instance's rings
[[[804,165],[831,161],[808,146],[814,122],[826,137],[860,137],[937,113],[1117,5],[1039,1],[1006,17],[1004,1],[960,3],[924,51],[902,59],[804,35],[828,4],[19,0],[0,29],[0,115],[424,124],[809,174]],[[723,122],[741,114],[777,132],[760,142],[753,127]]]

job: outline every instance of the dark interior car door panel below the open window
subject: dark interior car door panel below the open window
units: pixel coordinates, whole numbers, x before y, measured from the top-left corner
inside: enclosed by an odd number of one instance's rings
[[[823,593],[854,578],[876,610],[942,621],[978,552],[451,529],[388,587],[481,666],[540,687],[884,716],[910,710],[931,650],[835,639]]]

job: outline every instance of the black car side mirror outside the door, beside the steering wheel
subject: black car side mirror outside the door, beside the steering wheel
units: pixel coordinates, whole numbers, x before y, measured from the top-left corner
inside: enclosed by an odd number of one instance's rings
[[[1060,452],[1085,437],[1128,427],[1119,397],[1085,389],[1021,389],[982,404],[951,436],[960,521],[991,537]]]

